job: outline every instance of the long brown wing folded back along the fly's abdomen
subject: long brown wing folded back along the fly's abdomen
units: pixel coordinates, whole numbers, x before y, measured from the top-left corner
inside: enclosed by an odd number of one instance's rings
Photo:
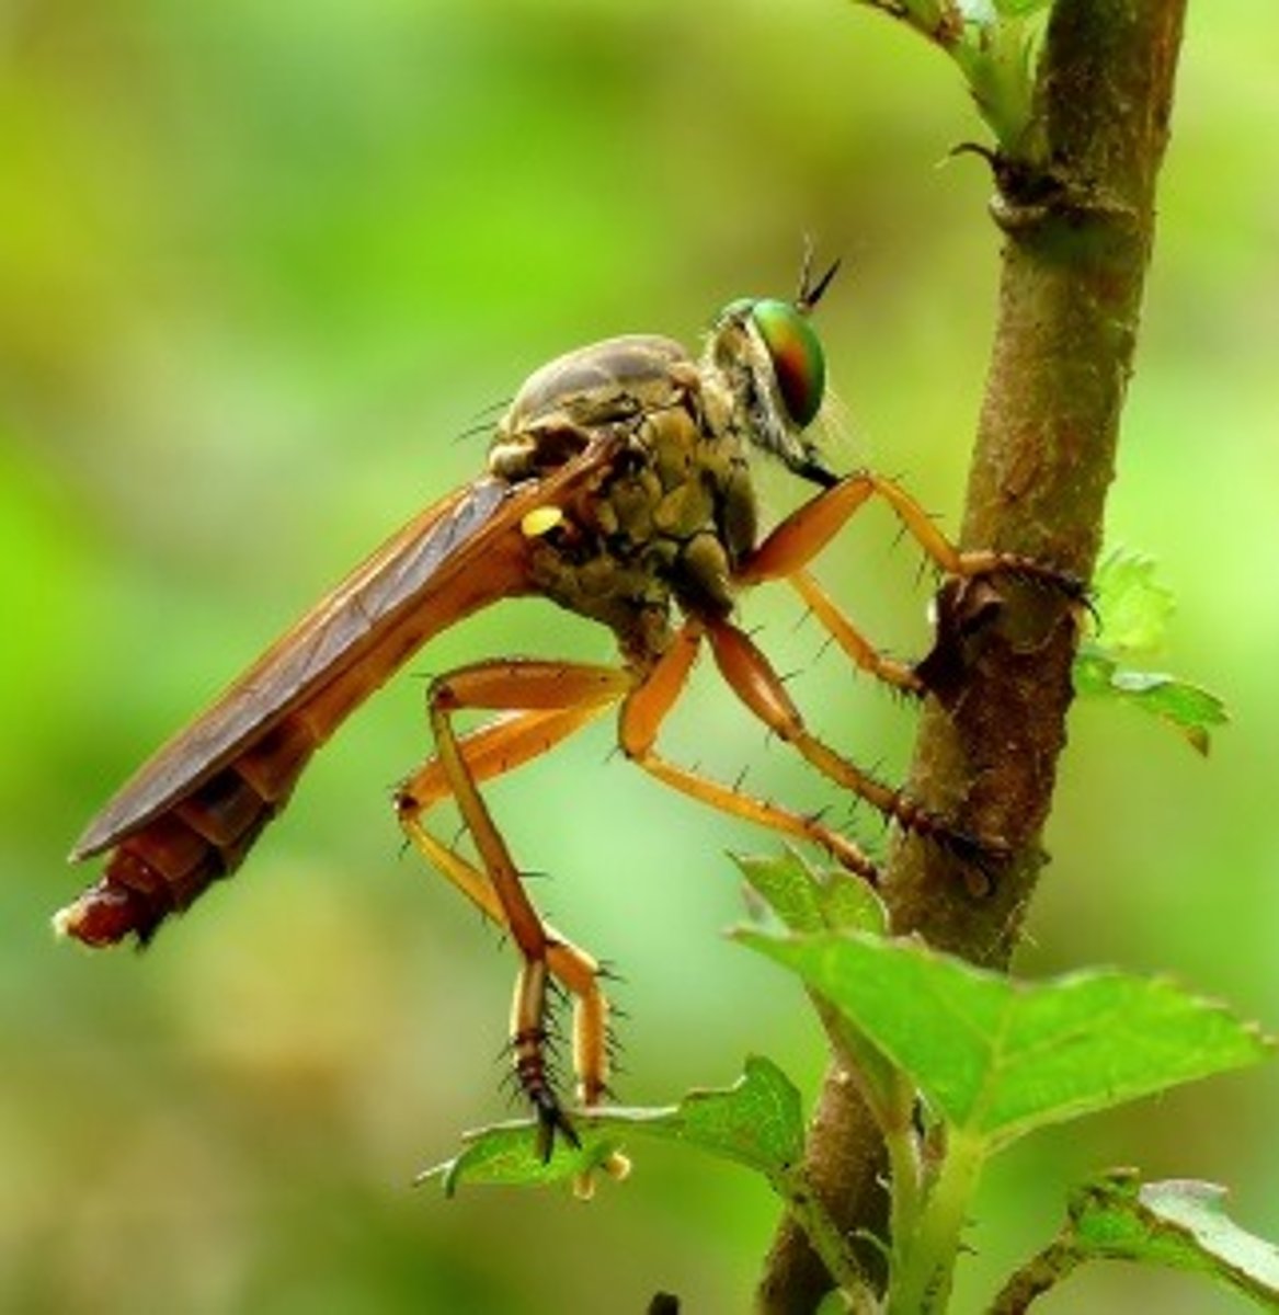
[[[305,714],[314,742],[322,740],[433,634],[486,602],[526,592],[524,514],[564,501],[609,446],[591,443],[546,480],[478,480],[420,513],[146,761],[88,825],[71,859],[100,853],[182,803],[291,714]]]

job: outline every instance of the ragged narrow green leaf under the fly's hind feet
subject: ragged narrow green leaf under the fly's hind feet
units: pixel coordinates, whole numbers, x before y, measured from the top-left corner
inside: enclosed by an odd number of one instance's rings
[[[461,1153],[417,1177],[438,1178],[446,1194],[459,1185],[543,1185],[582,1180],[592,1170],[616,1172],[618,1147],[632,1136],[663,1137],[700,1147],[757,1169],[788,1194],[788,1174],[804,1151],[800,1095],[770,1060],[750,1057],[745,1074],[730,1088],[690,1091],[678,1106],[608,1109],[572,1115],[579,1147],[555,1139],[550,1160],[538,1155],[538,1128],[532,1119],[499,1123],[464,1136]]]

